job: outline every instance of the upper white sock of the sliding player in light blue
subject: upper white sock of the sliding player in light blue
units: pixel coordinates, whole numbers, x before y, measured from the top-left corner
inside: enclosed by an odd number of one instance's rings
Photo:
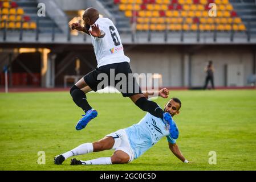
[[[70,158],[71,156],[88,154],[93,151],[94,151],[94,147],[92,146],[92,143],[84,143],[62,155],[64,156],[65,159],[67,159],[67,158]]]

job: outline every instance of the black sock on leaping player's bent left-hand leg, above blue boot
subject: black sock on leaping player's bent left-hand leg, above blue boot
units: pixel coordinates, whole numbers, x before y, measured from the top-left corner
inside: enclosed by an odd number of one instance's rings
[[[81,107],[84,112],[87,112],[88,110],[92,109],[92,107],[87,102],[86,94],[83,92],[83,90],[80,90],[76,85],[72,86],[72,88],[70,89],[70,94],[75,104]]]

